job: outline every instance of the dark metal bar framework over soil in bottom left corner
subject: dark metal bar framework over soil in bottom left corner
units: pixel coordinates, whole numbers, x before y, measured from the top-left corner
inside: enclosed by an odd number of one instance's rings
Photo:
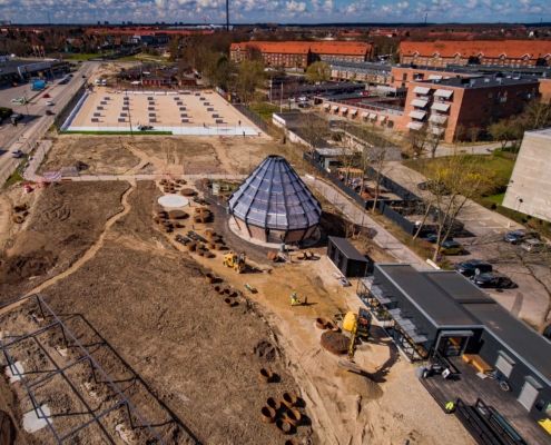
[[[158,404],[158,407],[160,407],[163,413],[166,413],[168,415],[168,422],[152,425],[151,422],[147,421],[145,416],[138,411],[136,405],[127,397],[127,395],[125,394],[125,389],[122,389],[116,382],[114,382],[114,378],[104,369],[104,367],[92,356],[90,350],[87,349],[81,342],[79,342],[75,333],[68,327],[67,319],[63,322],[40,295],[26,296],[22,298],[18,298],[14,301],[10,301],[9,304],[1,305],[0,314],[3,315],[6,313],[9,313],[11,307],[20,308],[21,304],[28,303],[32,299],[38,306],[38,310],[41,317],[39,318],[39,320],[47,324],[30,333],[21,335],[4,333],[3,337],[0,337],[0,349],[4,360],[2,365],[9,367],[11,375],[19,379],[22,388],[24,389],[23,393],[30,399],[32,409],[35,411],[37,418],[46,423],[56,444],[67,443],[66,441],[75,437],[77,433],[92,424],[96,424],[99,427],[99,431],[101,431],[102,437],[107,439],[107,443],[116,444],[117,442],[115,441],[114,434],[106,428],[101,421],[105,421],[105,417],[108,414],[114,413],[117,409],[122,409],[122,413],[126,414],[132,431],[136,429],[145,432],[149,436],[150,441],[152,441],[150,443],[165,444],[166,442],[160,436],[158,427],[170,424],[177,427],[180,433],[185,435],[185,437],[187,438],[186,443],[200,444],[200,441],[193,434],[193,432],[170,411],[168,406],[166,406],[166,404],[164,404],[151,393],[148,385],[131,369],[131,367],[122,359],[122,357],[120,357],[117,352],[112,349],[112,347],[82,316],[79,315],[75,316],[73,318],[78,318],[79,320],[81,319],[85,323],[86,328],[91,329],[92,334],[95,336],[97,335],[100,338],[100,340],[95,345],[99,347],[107,347],[108,352],[114,354],[117,359],[121,362],[125,372],[128,370],[131,375],[131,378],[128,379],[131,380],[129,387],[132,387],[136,383],[139,383],[139,385],[146,389],[146,394],[152,397],[151,399]],[[36,318],[38,319],[38,316]],[[71,347],[79,353],[77,358],[71,359],[65,366],[58,365],[48,348],[39,339],[40,335],[46,333],[56,334],[56,330],[61,334],[62,343],[66,349],[68,347]],[[16,366],[17,360],[10,353],[10,349],[20,345],[22,342],[28,340],[32,342],[33,345],[38,347],[39,354],[46,357],[47,365],[45,365],[43,370],[32,370],[30,373],[26,373],[24,369],[20,370],[18,366]],[[112,393],[112,396],[106,396],[105,400],[102,400],[97,408],[92,408],[91,406],[89,406],[89,403],[87,403],[83,393],[79,389],[79,383],[76,383],[69,375],[69,372],[71,369],[75,369],[76,366],[80,364],[87,364],[89,366],[91,377],[96,384],[106,385]],[[82,413],[69,413],[67,415],[89,416],[89,418],[87,418],[85,422],[81,422],[76,426],[71,426],[68,432],[60,432],[55,427],[52,422],[52,417],[55,416],[49,416],[45,413],[42,407],[43,405],[42,403],[40,403],[40,399],[37,396],[37,389],[43,388],[46,384],[48,384],[52,378],[57,376],[60,376],[62,378],[62,380],[69,386],[70,392],[86,408],[86,411]],[[102,404],[109,402],[111,403],[111,406],[100,409]]]

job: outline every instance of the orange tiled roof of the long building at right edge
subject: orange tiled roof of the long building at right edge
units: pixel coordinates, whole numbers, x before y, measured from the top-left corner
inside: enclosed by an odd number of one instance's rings
[[[510,59],[520,59],[529,56],[531,59],[551,55],[551,40],[436,40],[436,41],[402,41],[400,53],[402,56],[430,57],[439,53],[441,57],[478,57],[482,55],[489,58],[505,56]]]

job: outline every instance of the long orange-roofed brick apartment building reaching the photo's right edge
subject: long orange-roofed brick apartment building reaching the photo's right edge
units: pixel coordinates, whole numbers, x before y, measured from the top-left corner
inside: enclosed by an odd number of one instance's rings
[[[449,65],[551,66],[551,40],[402,41],[400,63],[439,68]]]

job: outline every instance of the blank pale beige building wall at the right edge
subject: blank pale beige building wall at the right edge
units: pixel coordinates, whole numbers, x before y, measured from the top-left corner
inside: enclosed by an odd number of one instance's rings
[[[527,131],[503,206],[551,221],[551,128]]]

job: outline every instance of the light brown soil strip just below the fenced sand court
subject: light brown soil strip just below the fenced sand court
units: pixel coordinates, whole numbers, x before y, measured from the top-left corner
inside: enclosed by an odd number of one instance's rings
[[[61,135],[39,174],[63,168],[82,175],[247,174],[273,152],[277,146],[267,138]]]

